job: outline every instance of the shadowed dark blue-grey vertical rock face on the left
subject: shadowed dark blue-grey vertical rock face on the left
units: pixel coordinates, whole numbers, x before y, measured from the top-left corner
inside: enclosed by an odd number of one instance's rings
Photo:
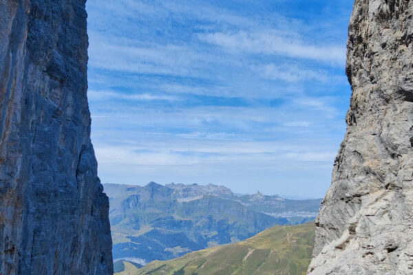
[[[112,274],[85,0],[0,0],[0,274]]]

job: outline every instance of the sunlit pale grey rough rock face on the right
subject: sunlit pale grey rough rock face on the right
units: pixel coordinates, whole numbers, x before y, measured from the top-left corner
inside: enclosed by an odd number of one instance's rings
[[[309,274],[413,274],[413,1],[356,0],[348,129]]]

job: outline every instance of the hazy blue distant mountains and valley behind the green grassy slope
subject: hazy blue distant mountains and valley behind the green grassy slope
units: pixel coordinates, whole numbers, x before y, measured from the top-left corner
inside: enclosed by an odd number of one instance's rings
[[[321,199],[239,195],[224,186],[104,184],[114,262],[146,265],[244,241],[274,225],[313,221]]]

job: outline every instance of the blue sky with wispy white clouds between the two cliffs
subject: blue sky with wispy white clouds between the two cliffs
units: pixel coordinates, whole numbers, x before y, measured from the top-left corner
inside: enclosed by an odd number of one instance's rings
[[[87,1],[103,182],[324,197],[352,1]]]

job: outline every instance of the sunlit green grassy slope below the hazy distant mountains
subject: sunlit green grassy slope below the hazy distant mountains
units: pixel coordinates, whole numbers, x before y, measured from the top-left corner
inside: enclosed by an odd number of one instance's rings
[[[313,223],[275,226],[240,243],[192,252],[171,261],[153,261],[129,274],[306,274],[314,232]]]

